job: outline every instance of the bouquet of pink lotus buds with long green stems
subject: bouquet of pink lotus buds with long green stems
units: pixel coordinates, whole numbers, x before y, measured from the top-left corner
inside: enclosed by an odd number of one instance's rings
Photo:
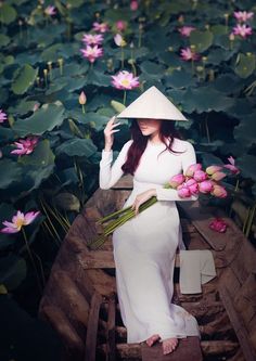
[[[227,173],[222,171],[223,168],[229,169],[233,175],[239,173],[239,169],[234,166],[232,157],[229,158],[229,162],[230,164],[228,165],[209,166],[205,170],[202,169],[203,167],[201,164],[193,164],[184,173],[171,177],[164,188],[177,190],[181,199],[200,193],[223,198],[228,194],[226,189],[219,184],[219,181],[227,176]],[[139,212],[145,210],[156,202],[156,196],[152,196],[140,206]],[[107,235],[135,216],[136,210],[132,206],[129,206],[101,218],[98,223],[103,224],[107,222],[107,224],[103,228],[103,233],[91,242],[90,247],[93,249],[99,248],[105,242]]]

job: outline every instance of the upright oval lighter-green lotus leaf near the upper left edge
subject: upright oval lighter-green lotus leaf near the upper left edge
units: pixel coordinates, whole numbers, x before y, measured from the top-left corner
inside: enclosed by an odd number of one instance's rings
[[[18,95],[24,94],[34,85],[37,74],[38,68],[34,69],[29,64],[23,65],[15,74],[12,91]]]

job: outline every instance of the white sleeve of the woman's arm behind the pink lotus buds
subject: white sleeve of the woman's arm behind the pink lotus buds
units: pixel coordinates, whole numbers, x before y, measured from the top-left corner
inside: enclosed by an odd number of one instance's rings
[[[189,168],[189,166],[196,163],[195,151],[194,151],[193,145],[189,142],[185,142],[185,145],[187,145],[187,150],[181,155],[183,173]],[[156,198],[157,198],[157,201],[196,201],[199,198],[199,196],[192,195],[190,197],[181,198],[178,195],[178,192],[176,190],[157,188],[156,189]]]

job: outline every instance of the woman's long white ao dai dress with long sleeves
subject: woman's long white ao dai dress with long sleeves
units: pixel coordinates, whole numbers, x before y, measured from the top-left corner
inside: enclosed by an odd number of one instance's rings
[[[101,189],[110,189],[123,176],[121,166],[131,143],[129,140],[124,144],[113,165],[113,151],[102,151]],[[143,341],[154,334],[159,334],[162,340],[200,337],[195,318],[171,304],[176,250],[184,248],[175,201],[196,197],[181,199],[176,190],[163,188],[172,176],[196,163],[195,152],[191,143],[176,138],[172,149],[183,153],[166,150],[159,155],[165,147],[164,143],[148,141],[124,208],[132,205],[138,194],[153,188],[158,202],[113,233],[117,295],[128,344]]]

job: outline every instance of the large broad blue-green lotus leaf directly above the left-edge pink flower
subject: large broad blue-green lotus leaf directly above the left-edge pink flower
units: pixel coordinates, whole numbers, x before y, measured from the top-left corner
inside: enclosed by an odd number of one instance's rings
[[[27,134],[41,136],[48,130],[52,130],[63,123],[63,105],[46,104],[46,106],[36,111],[30,117],[20,119],[13,125],[21,137]]]

